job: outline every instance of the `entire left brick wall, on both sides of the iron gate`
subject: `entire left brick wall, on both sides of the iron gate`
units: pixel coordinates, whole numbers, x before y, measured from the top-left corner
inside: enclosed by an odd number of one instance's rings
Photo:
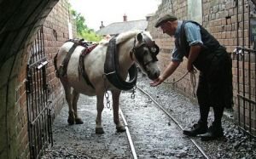
[[[60,0],[59,3],[55,5],[43,24],[44,31],[44,51],[47,54],[47,82],[49,85],[49,100],[52,102],[54,108],[54,116],[59,113],[64,102],[64,91],[61,87],[61,82],[55,77],[55,68],[53,65],[53,59],[55,54],[57,54],[58,49],[61,45],[68,39],[68,25],[67,20],[69,19],[68,14],[68,4],[67,0]],[[72,20],[72,19],[71,19]],[[72,24],[73,21],[71,21]],[[41,27],[41,26],[40,26]],[[73,25],[73,37],[76,37],[76,27]],[[33,39],[37,38],[36,36]],[[23,60],[20,65],[22,68],[18,77],[19,86],[15,89],[15,112],[17,119],[17,126],[14,132],[17,134],[18,145],[11,146],[16,147],[18,151],[19,158],[29,158],[29,141],[27,132],[27,110],[26,110],[26,64],[29,60],[29,48],[32,43],[29,42],[24,48],[26,54],[23,54],[20,59]],[[9,130],[12,131],[12,130]],[[12,156],[9,156],[12,158]],[[14,155],[15,157],[15,155]]]

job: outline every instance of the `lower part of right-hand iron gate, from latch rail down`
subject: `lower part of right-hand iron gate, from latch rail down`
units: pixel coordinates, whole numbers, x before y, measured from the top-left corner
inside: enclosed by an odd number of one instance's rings
[[[256,50],[237,47],[234,53],[238,124],[244,132],[253,136],[256,131]]]

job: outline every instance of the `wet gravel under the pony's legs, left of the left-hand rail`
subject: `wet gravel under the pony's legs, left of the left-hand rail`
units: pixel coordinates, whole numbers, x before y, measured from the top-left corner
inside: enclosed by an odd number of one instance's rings
[[[96,97],[80,95],[78,105],[84,124],[68,125],[65,105],[53,123],[54,145],[45,150],[43,159],[132,158],[126,134],[116,133],[112,110],[102,111],[105,133],[96,134]]]

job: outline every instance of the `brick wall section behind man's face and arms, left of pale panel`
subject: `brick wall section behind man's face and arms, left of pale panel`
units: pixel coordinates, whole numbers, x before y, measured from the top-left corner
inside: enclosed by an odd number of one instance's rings
[[[163,71],[166,65],[168,65],[171,61],[171,53],[172,49],[174,48],[174,38],[163,34],[160,28],[154,28],[154,24],[160,16],[167,13],[175,14],[179,20],[188,20],[187,0],[162,0],[162,3],[160,4],[155,15],[149,19],[148,31],[151,32],[155,42],[161,48],[160,54],[158,55],[161,71]],[[177,68],[177,71],[175,71],[175,73],[166,80],[167,82],[177,81],[186,73],[186,59],[184,58],[183,60],[183,63]],[[195,80],[197,81],[197,79]],[[194,88],[190,82],[190,76],[185,76],[181,82],[176,82],[172,85],[173,88],[177,89],[177,91],[191,97],[191,99],[195,99],[193,97]]]

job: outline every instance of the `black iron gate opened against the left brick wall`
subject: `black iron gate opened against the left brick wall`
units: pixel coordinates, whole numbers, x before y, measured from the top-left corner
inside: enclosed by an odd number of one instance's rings
[[[46,81],[47,63],[42,27],[32,43],[26,71],[26,105],[31,158],[39,158],[46,145],[53,144],[52,119]]]

